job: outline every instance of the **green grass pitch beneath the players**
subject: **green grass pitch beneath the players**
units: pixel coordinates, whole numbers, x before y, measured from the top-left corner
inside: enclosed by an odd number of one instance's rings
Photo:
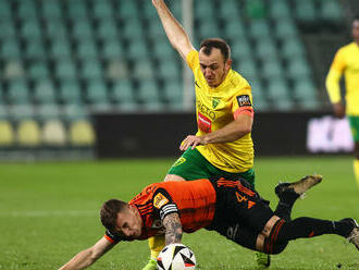
[[[58,269],[103,235],[98,212],[109,198],[128,200],[162,181],[172,159],[0,164],[0,269]],[[274,207],[275,184],[321,173],[293,217],[359,219],[351,157],[258,158],[257,189]],[[213,232],[186,234],[201,270],[256,269],[253,253]],[[147,242],[120,243],[90,269],[141,269]],[[336,235],[292,242],[271,269],[359,269],[359,253]]]

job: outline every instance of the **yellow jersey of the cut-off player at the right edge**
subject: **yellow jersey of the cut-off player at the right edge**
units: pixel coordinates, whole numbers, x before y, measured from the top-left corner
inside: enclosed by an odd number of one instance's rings
[[[326,77],[326,89],[332,103],[341,101],[339,81],[345,75],[346,113],[359,115],[359,46],[351,42],[335,54]]]

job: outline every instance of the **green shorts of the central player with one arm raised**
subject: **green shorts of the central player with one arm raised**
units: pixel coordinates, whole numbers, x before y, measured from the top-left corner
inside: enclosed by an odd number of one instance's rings
[[[211,176],[240,176],[255,186],[255,171],[231,173],[212,165],[197,149],[188,148],[170,168],[168,174],[178,175],[187,181]]]

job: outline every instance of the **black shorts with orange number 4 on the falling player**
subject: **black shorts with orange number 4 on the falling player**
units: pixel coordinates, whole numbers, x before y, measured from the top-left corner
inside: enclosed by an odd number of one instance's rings
[[[244,244],[238,240],[238,234],[242,238],[247,235],[253,243],[245,246],[252,248],[257,235],[274,214],[269,201],[262,199],[244,179],[211,177],[210,181],[216,192],[216,205],[214,219],[207,230],[215,230],[240,245]]]

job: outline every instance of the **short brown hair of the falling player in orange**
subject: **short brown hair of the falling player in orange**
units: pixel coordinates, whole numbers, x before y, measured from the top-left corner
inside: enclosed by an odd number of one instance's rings
[[[119,199],[110,199],[106,201],[100,210],[102,225],[109,231],[114,231],[117,213],[126,209],[127,202]]]

